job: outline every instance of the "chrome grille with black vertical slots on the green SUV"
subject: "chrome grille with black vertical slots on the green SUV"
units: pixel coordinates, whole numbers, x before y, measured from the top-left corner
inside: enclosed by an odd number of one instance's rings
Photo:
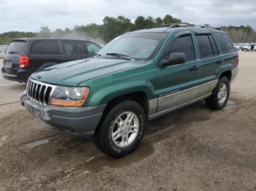
[[[38,104],[47,106],[50,95],[52,95],[55,87],[56,85],[49,85],[29,78],[26,85],[26,92],[31,100],[37,102]]]

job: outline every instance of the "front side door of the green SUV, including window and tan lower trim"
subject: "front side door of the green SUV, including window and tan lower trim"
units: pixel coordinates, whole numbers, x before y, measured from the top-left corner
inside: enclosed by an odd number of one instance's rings
[[[159,96],[157,112],[187,103],[197,98],[199,93],[197,87],[199,68],[191,32],[177,34],[170,40],[165,55],[174,52],[184,53],[187,62],[166,67],[159,66],[157,69],[156,87]]]

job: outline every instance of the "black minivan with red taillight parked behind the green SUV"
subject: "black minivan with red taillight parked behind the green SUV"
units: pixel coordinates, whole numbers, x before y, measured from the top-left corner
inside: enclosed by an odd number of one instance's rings
[[[5,52],[1,74],[5,79],[27,82],[34,71],[88,58],[101,48],[94,42],[75,39],[14,39]]]

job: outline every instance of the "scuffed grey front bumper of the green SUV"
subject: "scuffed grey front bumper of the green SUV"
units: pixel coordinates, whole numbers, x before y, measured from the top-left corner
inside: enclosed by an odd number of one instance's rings
[[[34,116],[61,131],[79,136],[94,134],[106,106],[42,106],[28,98],[26,91],[20,95],[20,102]]]

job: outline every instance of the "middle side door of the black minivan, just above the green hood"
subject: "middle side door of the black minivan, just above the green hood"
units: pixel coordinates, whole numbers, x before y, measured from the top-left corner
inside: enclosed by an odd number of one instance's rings
[[[75,61],[86,58],[86,51],[82,41],[61,40],[61,61]]]

